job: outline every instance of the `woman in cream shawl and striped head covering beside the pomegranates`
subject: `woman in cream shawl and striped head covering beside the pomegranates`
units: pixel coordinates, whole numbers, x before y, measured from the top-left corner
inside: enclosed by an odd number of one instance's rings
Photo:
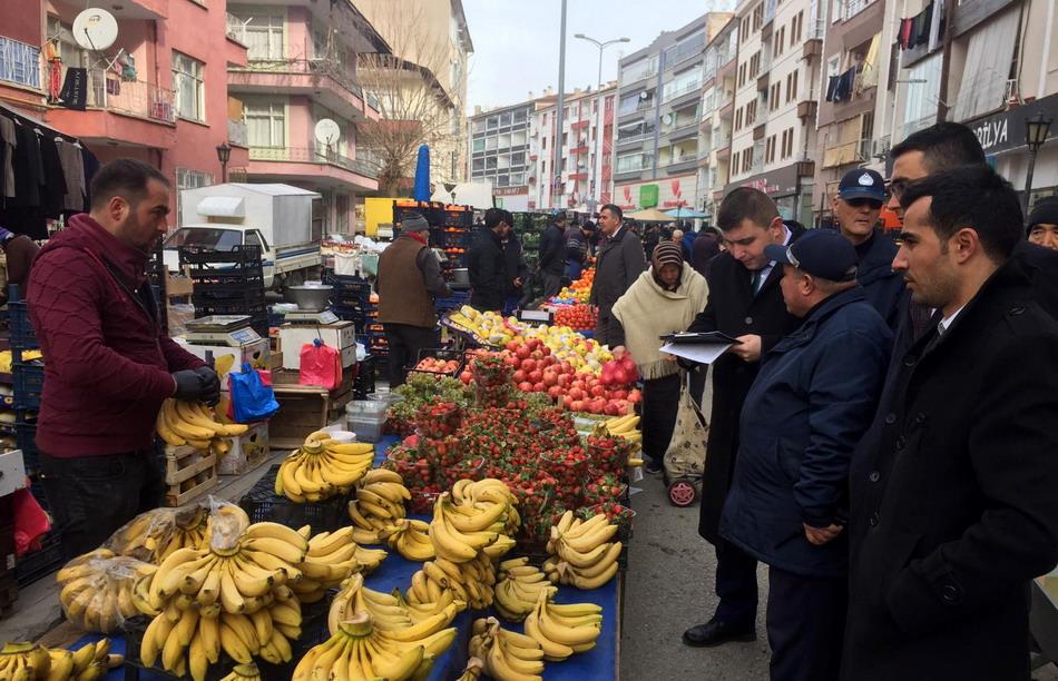
[[[643,453],[648,473],[660,473],[668,441],[676,427],[679,406],[679,366],[662,354],[659,336],[687,328],[705,309],[709,287],[705,277],[684,261],[679,244],[662,241],[654,249],[650,267],[614,304],[625,351],[643,376]]]

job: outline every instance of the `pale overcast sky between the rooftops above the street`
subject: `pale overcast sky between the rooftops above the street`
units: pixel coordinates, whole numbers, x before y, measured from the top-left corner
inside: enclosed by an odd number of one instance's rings
[[[575,33],[599,41],[629,38],[606,48],[603,82],[617,77],[617,60],[645,48],[662,31],[678,29],[725,0],[568,0],[566,90],[594,86],[599,50]],[[463,0],[474,53],[470,58],[469,114],[474,105],[508,106],[558,89],[561,0]]]

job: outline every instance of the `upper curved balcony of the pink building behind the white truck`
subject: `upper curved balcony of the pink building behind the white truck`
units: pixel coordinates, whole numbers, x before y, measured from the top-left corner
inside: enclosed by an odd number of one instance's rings
[[[363,89],[327,59],[257,60],[245,69],[229,68],[228,91],[304,95],[353,121],[379,117],[366,106]]]

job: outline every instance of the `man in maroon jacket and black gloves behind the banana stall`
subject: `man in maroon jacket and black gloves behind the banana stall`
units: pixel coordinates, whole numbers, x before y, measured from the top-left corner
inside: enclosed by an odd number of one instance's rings
[[[131,159],[99,169],[91,214],[33,263],[27,299],[45,356],[41,481],[68,556],[96,549],[165,493],[155,420],[167,397],[215,404],[217,375],[166,335],[145,268],[169,181]]]

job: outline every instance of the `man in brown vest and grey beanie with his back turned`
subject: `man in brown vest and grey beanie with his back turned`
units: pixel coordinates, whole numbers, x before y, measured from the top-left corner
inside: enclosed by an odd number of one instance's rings
[[[390,387],[404,384],[419,351],[437,347],[433,299],[452,295],[430,249],[430,224],[418,213],[401,223],[401,236],[379,257],[379,322],[390,348]]]

